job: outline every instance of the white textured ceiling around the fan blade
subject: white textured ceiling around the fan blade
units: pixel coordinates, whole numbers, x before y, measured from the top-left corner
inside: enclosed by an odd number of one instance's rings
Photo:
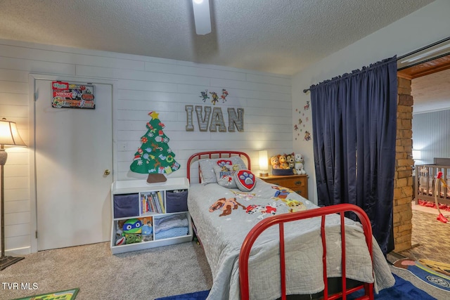
[[[432,0],[1,0],[0,39],[188,60],[278,74],[345,48]]]

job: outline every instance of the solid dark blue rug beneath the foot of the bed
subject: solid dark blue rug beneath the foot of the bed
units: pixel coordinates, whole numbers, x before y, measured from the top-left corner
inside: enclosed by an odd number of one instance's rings
[[[422,289],[418,289],[411,282],[394,275],[395,285],[387,289],[382,289],[378,294],[375,294],[375,299],[383,300],[435,300],[434,297],[423,292]],[[176,296],[168,296],[163,298],[158,298],[155,300],[205,300],[210,291],[195,292],[189,294],[181,294]],[[354,292],[353,294],[347,296],[347,299],[356,299],[364,294],[364,291],[360,290]]]

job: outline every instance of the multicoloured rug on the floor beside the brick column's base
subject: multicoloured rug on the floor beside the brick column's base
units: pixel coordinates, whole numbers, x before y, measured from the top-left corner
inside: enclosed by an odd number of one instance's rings
[[[394,267],[409,270],[423,282],[450,292],[450,265],[430,259],[399,259],[394,262]],[[450,294],[449,294],[450,297]]]

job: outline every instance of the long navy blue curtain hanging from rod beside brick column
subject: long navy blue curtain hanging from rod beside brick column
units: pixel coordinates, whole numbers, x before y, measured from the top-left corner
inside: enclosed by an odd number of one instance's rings
[[[364,209],[387,254],[394,249],[397,57],[310,91],[319,205],[351,203]]]

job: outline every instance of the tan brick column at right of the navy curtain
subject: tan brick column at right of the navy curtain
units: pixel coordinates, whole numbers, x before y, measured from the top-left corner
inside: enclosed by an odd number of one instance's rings
[[[413,200],[413,97],[411,80],[397,77],[397,140],[394,174],[395,252],[411,248]]]

